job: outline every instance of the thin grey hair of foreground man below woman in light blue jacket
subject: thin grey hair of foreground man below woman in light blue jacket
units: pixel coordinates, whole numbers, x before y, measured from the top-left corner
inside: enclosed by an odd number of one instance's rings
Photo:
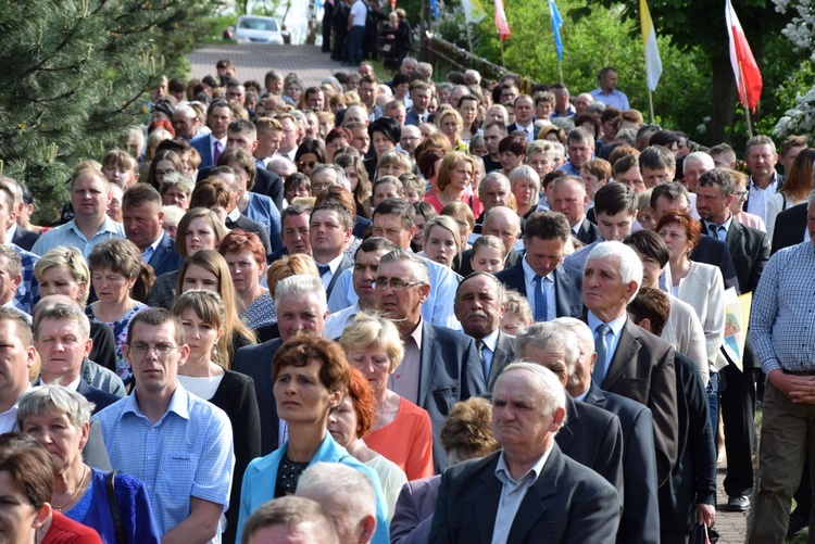
[[[333,515],[354,517],[353,526],[376,516],[373,483],[361,470],[341,463],[315,463],[305,469],[294,495],[316,501]]]

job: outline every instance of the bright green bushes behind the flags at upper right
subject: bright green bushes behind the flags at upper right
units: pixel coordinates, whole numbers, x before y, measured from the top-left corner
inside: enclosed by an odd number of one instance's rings
[[[564,16],[561,27],[563,80],[572,94],[597,88],[600,68],[614,66],[619,73],[619,90],[628,96],[631,107],[640,110],[648,121],[649,97],[639,24],[624,20],[620,9],[595,7],[584,10],[585,2],[580,0],[559,0],[557,7]],[[506,68],[549,85],[560,81],[547,3],[542,0],[509,0],[505,11],[512,30],[512,36],[504,41]],[[488,13],[491,15],[491,11]],[[567,13],[576,16],[570,17]],[[463,25],[463,14],[449,13],[447,18]],[[448,22],[442,35],[447,39],[452,35],[456,43],[466,49],[466,36],[449,30],[449,26]],[[500,64],[501,50],[492,17],[485,18],[474,30],[474,53]],[[667,38],[660,38],[659,45],[663,66],[670,69],[663,72],[653,97],[656,122],[688,132],[698,141],[705,141],[705,117],[710,113],[699,97],[711,94],[706,56],[698,48],[680,51],[670,46]]]

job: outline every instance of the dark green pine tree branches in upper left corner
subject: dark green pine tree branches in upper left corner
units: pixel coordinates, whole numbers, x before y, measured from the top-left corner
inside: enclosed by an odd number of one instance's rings
[[[100,160],[147,119],[161,74],[212,30],[211,0],[0,2],[0,161],[28,184],[39,220],[66,200],[80,160]]]

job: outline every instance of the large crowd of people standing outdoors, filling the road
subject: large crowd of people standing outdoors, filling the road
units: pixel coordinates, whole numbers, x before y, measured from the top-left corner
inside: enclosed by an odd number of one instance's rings
[[[737,164],[611,67],[238,74],[162,80],[57,227],[0,179],[11,542],[680,543],[720,457],[751,542],[808,527],[805,138]]]

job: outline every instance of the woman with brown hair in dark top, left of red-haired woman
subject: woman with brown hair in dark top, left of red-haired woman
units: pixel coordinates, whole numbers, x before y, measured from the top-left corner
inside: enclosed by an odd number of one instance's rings
[[[193,207],[178,222],[175,238],[175,252],[181,258],[199,250],[215,250],[226,236],[226,227],[218,217],[205,207]],[[175,287],[180,270],[162,274],[150,290],[150,307],[170,309],[175,299]]]

